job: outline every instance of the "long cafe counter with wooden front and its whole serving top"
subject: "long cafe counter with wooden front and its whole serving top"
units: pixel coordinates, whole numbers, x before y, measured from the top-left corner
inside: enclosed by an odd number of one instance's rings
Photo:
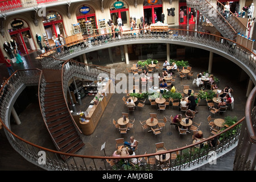
[[[90,102],[90,105],[86,111],[82,111],[81,113],[73,113],[73,119],[75,120],[82,134],[90,135],[96,129],[98,121],[100,121],[101,115],[112,97],[112,93],[110,93],[111,86],[113,86],[112,80],[98,83],[98,93]]]

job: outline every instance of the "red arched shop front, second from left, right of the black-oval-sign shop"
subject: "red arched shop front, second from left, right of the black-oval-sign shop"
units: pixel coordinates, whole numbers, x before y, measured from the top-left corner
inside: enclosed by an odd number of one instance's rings
[[[50,46],[55,45],[52,40],[54,34],[56,36],[58,36],[58,34],[66,36],[63,19],[56,11],[48,11],[46,16],[43,17],[43,24]]]

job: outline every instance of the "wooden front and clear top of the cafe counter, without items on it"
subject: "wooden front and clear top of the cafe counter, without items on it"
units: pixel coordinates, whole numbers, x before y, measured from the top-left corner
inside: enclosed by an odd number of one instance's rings
[[[72,115],[77,126],[82,131],[82,134],[90,135],[96,129],[96,126],[98,125],[98,121],[100,121],[101,115],[103,114],[103,112],[104,112],[106,106],[108,105],[108,102],[112,96],[112,93],[110,93],[110,86],[112,86],[112,84],[113,84],[113,82],[111,80],[106,82],[106,85],[104,85],[104,89],[99,90],[98,93],[96,94],[96,96],[94,97],[94,99],[97,97],[100,100],[98,102],[98,104],[90,105],[87,108],[86,111],[88,112],[88,115],[86,115],[85,119],[88,119],[89,122],[81,122],[79,119],[80,115]],[[100,95],[101,91],[107,92],[107,93],[105,93],[105,96]],[[74,113],[74,114],[76,114],[76,113]]]

